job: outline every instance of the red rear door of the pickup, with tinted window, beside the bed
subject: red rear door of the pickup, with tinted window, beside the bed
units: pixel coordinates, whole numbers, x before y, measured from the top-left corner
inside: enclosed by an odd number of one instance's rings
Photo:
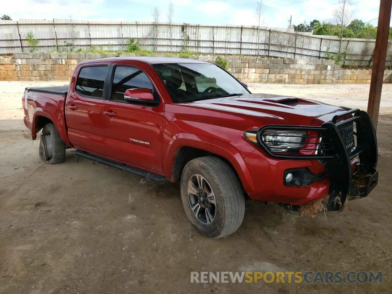
[[[104,155],[103,102],[109,64],[80,67],[71,81],[65,103],[68,137],[77,149]],[[76,78],[75,78],[76,77]]]

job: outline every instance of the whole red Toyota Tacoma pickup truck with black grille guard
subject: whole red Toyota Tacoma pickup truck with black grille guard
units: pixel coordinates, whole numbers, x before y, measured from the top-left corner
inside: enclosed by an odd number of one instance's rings
[[[181,182],[204,236],[240,227],[245,197],[290,210],[344,209],[377,185],[368,114],[291,96],[252,94],[215,64],[162,57],[78,64],[69,86],[26,88],[24,123],[40,158],[65,149],[156,181]]]

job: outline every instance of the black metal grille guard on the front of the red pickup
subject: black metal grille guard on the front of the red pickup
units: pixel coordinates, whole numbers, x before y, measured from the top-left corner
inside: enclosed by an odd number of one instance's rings
[[[323,160],[328,172],[325,176],[330,179],[330,189],[328,198],[325,199],[324,207],[327,211],[342,211],[348,200],[356,200],[367,196],[378,182],[377,166],[377,138],[376,131],[370,120],[368,113],[359,109],[348,109],[345,107],[342,112],[332,119],[325,122],[321,127],[301,126],[301,125],[266,125],[258,130],[257,142],[267,154],[274,158],[304,160],[317,159]],[[348,119],[341,120],[346,116]],[[356,123],[356,131],[352,129],[353,122]],[[291,149],[296,154],[274,152],[264,142],[263,132],[267,130],[280,131],[316,131],[319,133],[320,141],[312,143],[317,145],[314,149]],[[356,135],[357,145],[354,143]],[[326,140],[323,143],[322,140]],[[325,145],[329,145],[324,149]],[[301,150],[318,150],[313,154],[300,154]],[[323,151],[323,152],[321,152]],[[316,154],[314,154],[316,153]],[[359,158],[359,165],[356,172],[352,173],[351,161]],[[354,181],[353,181],[354,178]],[[299,206],[283,204],[287,209],[298,210]]]

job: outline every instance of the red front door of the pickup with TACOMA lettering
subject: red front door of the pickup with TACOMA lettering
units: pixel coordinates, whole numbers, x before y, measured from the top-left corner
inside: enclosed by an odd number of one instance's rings
[[[154,172],[162,172],[164,103],[143,64],[118,62],[111,66],[109,99],[103,105],[108,156]],[[153,102],[124,100],[127,89],[148,88]]]

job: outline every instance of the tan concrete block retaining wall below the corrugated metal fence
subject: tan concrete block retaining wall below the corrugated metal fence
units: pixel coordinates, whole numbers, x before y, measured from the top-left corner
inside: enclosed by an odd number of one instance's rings
[[[69,81],[76,65],[85,60],[114,57],[116,53],[15,53],[0,58],[0,81]],[[135,54],[120,54],[132,57]],[[156,56],[159,56],[158,54]],[[190,56],[216,61],[216,56]],[[371,69],[341,69],[333,60],[228,57],[229,71],[248,83],[370,83]],[[391,82],[392,71],[384,72]]]

